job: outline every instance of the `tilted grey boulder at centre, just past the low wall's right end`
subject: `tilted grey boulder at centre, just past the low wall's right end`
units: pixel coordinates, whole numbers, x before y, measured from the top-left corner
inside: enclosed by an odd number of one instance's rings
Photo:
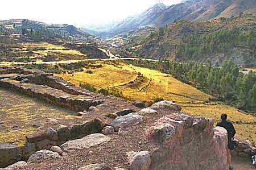
[[[114,127],[115,131],[118,131],[119,128],[127,128],[143,121],[143,117],[141,115],[130,113],[123,117],[116,118],[114,121],[110,122],[110,126]]]

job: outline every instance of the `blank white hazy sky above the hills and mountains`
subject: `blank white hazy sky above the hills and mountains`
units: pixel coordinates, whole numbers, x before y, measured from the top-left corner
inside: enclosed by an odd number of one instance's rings
[[[31,19],[75,26],[105,23],[141,13],[155,3],[181,0],[1,0],[0,19]]]

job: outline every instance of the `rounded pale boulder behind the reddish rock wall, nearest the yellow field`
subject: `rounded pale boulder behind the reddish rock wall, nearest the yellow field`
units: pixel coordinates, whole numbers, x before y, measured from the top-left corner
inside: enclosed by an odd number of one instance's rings
[[[160,101],[154,103],[150,108],[154,110],[170,109],[174,111],[181,111],[181,107],[171,101]]]

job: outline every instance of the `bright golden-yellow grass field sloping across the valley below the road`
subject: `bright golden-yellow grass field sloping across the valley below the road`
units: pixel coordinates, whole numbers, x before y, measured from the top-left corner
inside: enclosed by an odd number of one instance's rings
[[[102,64],[103,61],[98,62]],[[171,75],[127,64],[118,66],[104,64],[104,67],[92,69],[92,72],[92,74],[86,73],[86,69],[84,69],[84,72],[56,74],[56,76],[63,77],[75,85],[79,85],[80,82],[86,82],[98,89],[118,86],[122,90],[123,96],[133,101],[142,100],[152,103],[155,98],[175,101],[182,106],[185,113],[213,118],[216,123],[222,113],[227,113],[229,120],[235,122],[234,126],[237,129],[237,134],[256,142],[256,117],[222,103],[206,103],[205,101],[211,97],[209,94],[184,84]],[[126,85],[127,82],[131,82],[136,78],[138,72],[142,73],[147,78],[147,81],[137,88]]]

